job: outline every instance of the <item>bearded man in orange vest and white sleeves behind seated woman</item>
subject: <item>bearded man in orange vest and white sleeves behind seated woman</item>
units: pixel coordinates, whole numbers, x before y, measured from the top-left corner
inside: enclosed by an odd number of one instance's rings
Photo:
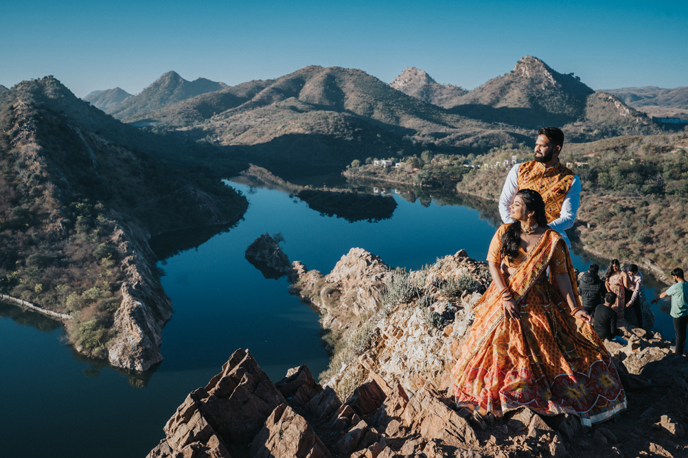
[[[581,179],[559,164],[563,146],[563,132],[557,127],[543,127],[537,131],[535,160],[516,164],[506,177],[499,196],[499,215],[504,223],[513,223],[509,206],[519,189],[536,190],[545,201],[545,213],[550,228],[561,234],[566,246],[571,242],[564,230],[576,221],[581,201]]]

